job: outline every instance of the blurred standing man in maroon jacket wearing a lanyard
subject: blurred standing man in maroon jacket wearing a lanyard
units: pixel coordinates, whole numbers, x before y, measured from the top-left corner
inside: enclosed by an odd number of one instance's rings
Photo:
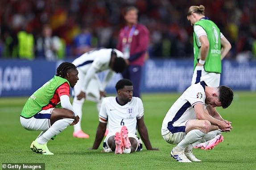
[[[124,53],[128,65],[122,76],[132,81],[134,97],[140,97],[142,67],[149,45],[149,30],[137,23],[138,12],[133,6],[125,8],[126,26],[121,29],[117,43],[117,49]]]

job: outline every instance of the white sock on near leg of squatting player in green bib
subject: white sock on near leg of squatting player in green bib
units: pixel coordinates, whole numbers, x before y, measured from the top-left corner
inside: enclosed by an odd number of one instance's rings
[[[66,129],[66,127],[73,122],[74,119],[68,118],[57,120],[48,130],[45,131],[44,134],[37,138],[37,142],[40,145],[47,143],[50,140],[50,138],[52,138],[54,135],[61,133],[62,130]]]

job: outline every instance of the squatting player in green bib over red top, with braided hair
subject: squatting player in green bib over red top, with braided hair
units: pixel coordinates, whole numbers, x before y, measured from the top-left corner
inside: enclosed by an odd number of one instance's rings
[[[35,91],[25,103],[21,111],[21,125],[26,130],[42,131],[30,145],[34,152],[53,155],[46,145],[50,138],[67,126],[78,123],[79,117],[74,115],[69,98],[70,87],[74,87],[77,81],[75,65],[61,63],[57,75]]]

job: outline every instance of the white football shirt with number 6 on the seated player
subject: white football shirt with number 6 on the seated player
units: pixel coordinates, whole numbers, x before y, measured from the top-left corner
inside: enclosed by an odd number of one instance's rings
[[[120,132],[121,127],[125,125],[129,133],[137,134],[137,119],[143,115],[143,103],[138,97],[132,97],[124,106],[116,102],[116,97],[106,97],[99,111],[99,121],[108,124],[109,133]]]

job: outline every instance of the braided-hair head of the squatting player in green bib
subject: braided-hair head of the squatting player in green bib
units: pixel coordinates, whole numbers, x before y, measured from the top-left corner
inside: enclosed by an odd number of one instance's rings
[[[78,81],[78,70],[73,63],[63,62],[57,68],[57,76],[67,79],[71,87]]]

